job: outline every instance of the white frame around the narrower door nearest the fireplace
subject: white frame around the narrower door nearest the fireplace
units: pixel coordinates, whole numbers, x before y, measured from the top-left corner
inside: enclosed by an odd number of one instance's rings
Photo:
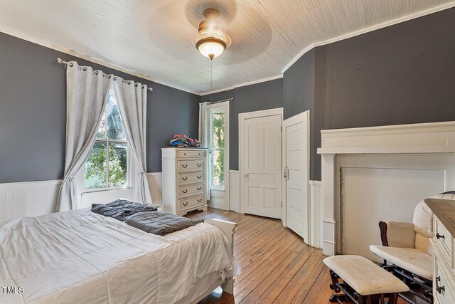
[[[289,117],[287,118],[286,120],[283,120],[283,127],[282,129],[286,130],[286,126],[285,125],[293,125],[294,123],[296,122],[299,122],[301,121],[301,117],[306,117],[306,122],[307,122],[307,125],[306,125],[306,138],[307,138],[307,147],[308,147],[308,157],[307,159],[303,159],[303,161],[305,162],[306,161],[306,164],[307,164],[307,168],[308,168],[308,172],[306,172],[307,174],[307,178],[308,178],[308,182],[310,183],[310,153],[311,153],[311,148],[310,148],[310,111],[309,110],[306,110],[305,112],[301,112],[297,115],[294,115],[292,117]],[[284,131],[283,130],[283,131]],[[286,164],[286,132],[282,132],[282,171],[284,172],[284,166]],[[305,241],[307,243],[310,243],[309,239],[310,239],[310,236],[311,236],[311,220],[312,220],[312,216],[311,216],[311,202],[310,202],[310,184],[307,184],[306,187],[308,188],[307,189],[307,198],[306,198],[306,202],[307,202],[307,219],[308,219],[308,223],[307,223],[307,231],[308,231],[308,235],[306,236],[306,239]],[[287,196],[286,196],[286,181],[284,180],[284,177],[282,177],[282,202],[283,202],[283,208],[282,208],[282,218],[283,218],[283,226],[284,227],[287,227]]]

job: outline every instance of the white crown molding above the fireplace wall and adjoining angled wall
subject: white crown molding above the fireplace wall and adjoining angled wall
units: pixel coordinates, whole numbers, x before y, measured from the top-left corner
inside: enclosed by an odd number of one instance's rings
[[[370,26],[368,28],[362,28],[362,29],[360,29],[358,31],[353,31],[353,32],[350,32],[350,33],[346,33],[344,35],[337,36],[335,38],[330,38],[330,39],[319,41],[319,42],[316,42],[316,43],[311,43],[309,46],[304,48],[296,57],[294,57],[294,59],[291,60],[291,62],[289,62],[283,68],[282,74],[284,74],[284,72],[286,72],[287,69],[291,67],[291,65],[296,63],[296,61],[298,61],[299,58],[301,58],[301,56],[304,56],[304,54],[306,52],[311,51],[313,48],[316,48],[316,46],[325,46],[325,45],[330,44],[330,43],[334,43],[334,42],[337,42],[337,41],[342,41],[342,40],[345,40],[345,39],[348,39],[348,38],[352,38],[352,37],[355,37],[355,36],[362,35],[363,33],[369,33],[370,31],[376,31],[376,30],[378,30],[380,28],[386,28],[387,26],[393,26],[393,25],[398,24],[398,23],[402,23],[402,22],[405,22],[405,21],[410,21],[412,19],[417,19],[419,17],[427,16],[427,15],[433,14],[433,13],[437,13],[438,11],[444,11],[445,9],[451,9],[453,7],[455,7],[455,1],[451,1],[451,2],[449,2],[447,4],[442,4],[440,6],[435,6],[435,7],[432,7],[431,9],[426,9],[424,11],[419,11],[417,13],[410,14],[410,15],[407,15],[407,16],[403,16],[403,17],[400,17],[400,18],[397,18],[397,19],[392,19],[390,21],[385,21],[385,22],[379,23],[379,24],[377,24],[375,26]]]

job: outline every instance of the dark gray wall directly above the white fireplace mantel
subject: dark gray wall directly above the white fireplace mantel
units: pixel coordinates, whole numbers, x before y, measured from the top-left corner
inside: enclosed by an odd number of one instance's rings
[[[326,129],[455,119],[455,9],[316,48]]]

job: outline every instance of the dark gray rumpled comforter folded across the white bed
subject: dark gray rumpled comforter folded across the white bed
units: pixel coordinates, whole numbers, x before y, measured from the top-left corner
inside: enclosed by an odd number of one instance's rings
[[[149,234],[164,236],[202,223],[183,216],[156,211],[151,206],[135,203],[127,199],[117,199],[109,204],[92,204],[92,212],[126,222],[129,226]]]

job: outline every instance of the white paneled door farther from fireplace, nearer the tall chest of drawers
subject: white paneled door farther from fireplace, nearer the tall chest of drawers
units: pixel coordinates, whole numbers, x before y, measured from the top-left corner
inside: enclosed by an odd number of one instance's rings
[[[267,114],[241,120],[242,205],[245,213],[281,219],[282,114]]]

